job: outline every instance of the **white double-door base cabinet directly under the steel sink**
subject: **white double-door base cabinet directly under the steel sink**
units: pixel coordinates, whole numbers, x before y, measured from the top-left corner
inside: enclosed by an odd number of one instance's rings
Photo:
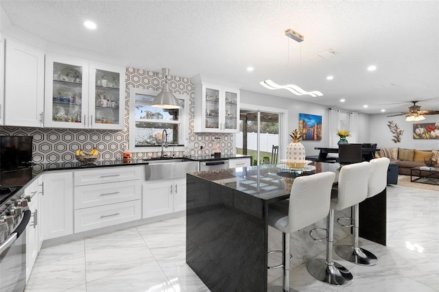
[[[143,218],[186,210],[186,179],[143,183]]]

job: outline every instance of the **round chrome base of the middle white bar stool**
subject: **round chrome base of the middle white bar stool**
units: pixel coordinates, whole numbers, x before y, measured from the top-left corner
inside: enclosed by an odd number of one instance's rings
[[[308,272],[317,280],[337,286],[346,287],[352,284],[352,273],[342,265],[333,262],[329,265],[322,258],[313,258],[307,263]]]

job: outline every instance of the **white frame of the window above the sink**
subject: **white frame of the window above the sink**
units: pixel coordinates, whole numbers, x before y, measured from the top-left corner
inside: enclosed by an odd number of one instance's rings
[[[131,152],[157,152],[161,151],[161,145],[157,146],[137,146],[136,141],[136,95],[150,95],[155,97],[160,91],[149,90],[143,88],[130,88],[130,123],[129,123],[129,142],[128,148]],[[179,146],[175,146],[174,151],[185,151],[185,145],[189,141],[189,96],[174,93],[177,99],[185,101],[185,106],[180,109],[180,128],[181,128],[181,140]],[[169,146],[172,147],[172,146]],[[169,151],[168,147],[168,151]]]

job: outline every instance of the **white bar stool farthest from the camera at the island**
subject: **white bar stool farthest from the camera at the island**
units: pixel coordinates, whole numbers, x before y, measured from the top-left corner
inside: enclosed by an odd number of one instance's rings
[[[387,186],[387,171],[389,167],[389,158],[377,158],[370,160],[370,173],[368,178],[368,195],[367,197],[373,197],[378,195],[383,191],[385,186]],[[364,250],[359,247],[359,222],[358,222],[358,212],[359,204],[355,204],[352,208],[352,218],[340,218],[351,219],[353,225],[347,225],[343,227],[353,227],[353,243],[352,245],[337,245],[335,247],[335,252],[344,260],[348,262],[355,263],[357,265],[377,265],[377,256],[372,254],[368,250]],[[339,222],[340,223],[340,222]]]

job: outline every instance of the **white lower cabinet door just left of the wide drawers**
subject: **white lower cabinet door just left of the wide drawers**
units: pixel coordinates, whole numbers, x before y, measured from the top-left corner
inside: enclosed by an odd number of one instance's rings
[[[43,239],[73,234],[72,172],[44,173],[41,199]]]

